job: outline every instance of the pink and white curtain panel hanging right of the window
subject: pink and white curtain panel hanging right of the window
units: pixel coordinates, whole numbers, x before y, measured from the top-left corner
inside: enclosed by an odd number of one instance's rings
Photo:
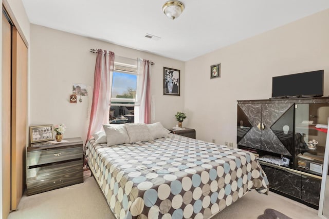
[[[137,89],[134,107],[135,123],[151,123],[150,61],[138,59]]]

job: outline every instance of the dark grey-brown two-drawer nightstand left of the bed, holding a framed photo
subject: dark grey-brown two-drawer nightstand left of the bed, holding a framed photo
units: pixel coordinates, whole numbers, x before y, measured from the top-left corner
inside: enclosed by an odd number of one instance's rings
[[[80,137],[60,144],[36,143],[27,147],[26,195],[83,183],[83,143]]]

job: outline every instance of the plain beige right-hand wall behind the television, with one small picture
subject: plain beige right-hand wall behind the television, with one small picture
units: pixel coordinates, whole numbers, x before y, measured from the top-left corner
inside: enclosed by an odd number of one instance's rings
[[[200,140],[236,146],[236,101],[271,97],[273,76],[324,69],[328,96],[328,26],[325,10],[186,62],[186,125]],[[210,79],[216,63],[222,63],[221,78]]]

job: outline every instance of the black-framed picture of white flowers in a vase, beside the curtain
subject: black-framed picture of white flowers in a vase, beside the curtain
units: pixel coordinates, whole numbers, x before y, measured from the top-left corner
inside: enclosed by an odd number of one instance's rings
[[[163,95],[180,96],[180,70],[163,67]]]

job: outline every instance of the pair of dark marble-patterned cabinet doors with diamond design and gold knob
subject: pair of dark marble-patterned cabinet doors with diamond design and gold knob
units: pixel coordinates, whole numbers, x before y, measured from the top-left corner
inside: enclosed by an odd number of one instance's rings
[[[272,153],[293,156],[293,148],[290,144],[280,141],[281,130],[276,130],[276,124],[281,123],[281,119],[290,120],[288,123],[292,132],[294,117],[290,118],[286,114],[291,114],[292,103],[254,103],[237,105],[238,112],[238,135],[237,144],[249,148],[260,149]],[[287,121],[285,121],[287,122]],[[240,127],[239,127],[240,125]],[[246,133],[239,132],[239,129],[245,129]],[[240,134],[239,134],[240,133]],[[293,135],[289,135],[290,142],[293,141]]]

